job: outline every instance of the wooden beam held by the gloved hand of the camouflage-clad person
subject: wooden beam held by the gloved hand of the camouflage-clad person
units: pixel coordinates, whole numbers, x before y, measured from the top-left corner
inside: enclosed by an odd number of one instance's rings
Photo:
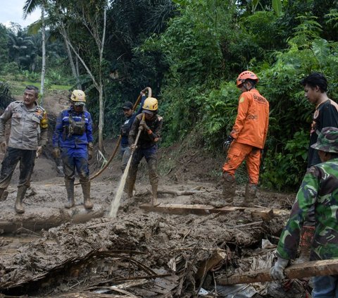
[[[338,259],[297,263],[287,267],[284,273],[287,279],[335,275],[338,274]],[[273,278],[270,277],[270,269],[264,269],[230,275],[227,278],[216,280],[216,283],[218,285],[236,285],[239,283],[262,283],[272,280]]]

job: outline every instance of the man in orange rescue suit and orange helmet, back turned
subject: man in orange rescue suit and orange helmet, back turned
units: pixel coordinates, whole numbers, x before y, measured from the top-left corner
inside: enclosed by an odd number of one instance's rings
[[[258,77],[249,70],[237,77],[237,87],[243,92],[239,97],[237,118],[225,141],[227,159],[223,165],[223,199],[232,203],[235,193],[234,172],[246,159],[249,183],[245,189],[242,206],[253,206],[259,178],[261,152],[263,151],[269,123],[269,103],[255,89]]]

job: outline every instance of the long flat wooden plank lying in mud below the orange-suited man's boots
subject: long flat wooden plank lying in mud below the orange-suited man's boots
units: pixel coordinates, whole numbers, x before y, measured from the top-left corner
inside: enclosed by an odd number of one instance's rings
[[[261,209],[261,208],[246,208],[237,206],[225,206],[222,208],[215,208],[210,205],[187,205],[187,204],[159,204],[158,206],[151,206],[151,204],[142,204],[139,206],[147,212],[161,212],[170,214],[199,214],[208,215],[211,213],[229,213],[232,211],[249,211],[254,218],[260,217],[264,221],[270,221],[274,216],[273,209]]]

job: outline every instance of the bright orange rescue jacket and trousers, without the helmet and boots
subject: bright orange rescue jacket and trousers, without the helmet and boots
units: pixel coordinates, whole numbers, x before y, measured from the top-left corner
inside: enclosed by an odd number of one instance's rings
[[[230,145],[223,172],[234,177],[234,172],[246,159],[249,183],[257,184],[261,149],[264,148],[269,125],[269,103],[251,89],[239,97],[237,118],[230,132],[234,141]]]

